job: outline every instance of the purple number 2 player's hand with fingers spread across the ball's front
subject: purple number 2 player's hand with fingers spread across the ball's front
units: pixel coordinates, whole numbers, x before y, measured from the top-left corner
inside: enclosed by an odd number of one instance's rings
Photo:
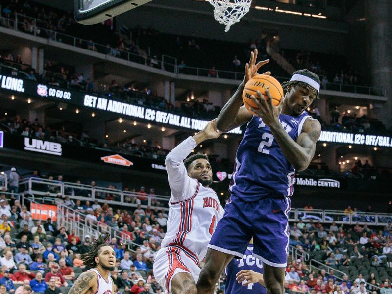
[[[282,111],[283,102],[280,102],[278,106],[274,106],[272,104],[272,97],[268,89],[266,89],[266,94],[268,97],[268,101],[263,97],[260,91],[257,91],[257,97],[252,95],[252,100],[257,105],[258,109],[250,107],[250,110],[252,110],[259,117],[261,117],[263,119],[263,123],[271,127],[274,123],[280,124],[279,114]]]

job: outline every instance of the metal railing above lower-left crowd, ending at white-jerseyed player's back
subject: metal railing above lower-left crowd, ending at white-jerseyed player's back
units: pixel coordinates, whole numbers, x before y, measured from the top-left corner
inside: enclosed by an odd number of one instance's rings
[[[141,196],[138,193],[130,191],[122,191],[118,189],[111,189],[107,187],[98,187],[84,184],[77,184],[71,182],[59,182],[56,180],[42,179],[38,177],[29,177],[22,179],[19,182],[19,186],[25,190],[25,194],[31,194],[34,197],[47,196],[56,197],[58,193],[62,196],[69,196],[70,199],[81,200],[81,201],[95,201],[99,203],[105,203],[125,207],[136,208],[140,203],[139,198],[145,197],[147,204],[142,204],[142,208],[151,206],[152,208],[165,209],[168,211],[169,196],[163,195],[148,195]],[[111,195],[113,200],[106,200],[106,196]],[[154,203],[159,202],[165,207],[154,206]]]

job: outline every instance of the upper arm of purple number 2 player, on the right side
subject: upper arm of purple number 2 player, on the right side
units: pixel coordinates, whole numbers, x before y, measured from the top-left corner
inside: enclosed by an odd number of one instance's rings
[[[302,132],[297,138],[297,143],[299,146],[304,148],[308,155],[308,160],[304,163],[301,170],[306,169],[313,159],[316,151],[316,143],[319,140],[321,134],[321,124],[318,120],[308,118],[302,127]]]

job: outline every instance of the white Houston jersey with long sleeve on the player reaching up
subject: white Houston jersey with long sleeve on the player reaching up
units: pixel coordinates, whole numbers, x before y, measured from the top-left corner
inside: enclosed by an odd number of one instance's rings
[[[167,233],[161,246],[181,247],[198,263],[207,253],[224,210],[213,189],[188,176],[183,160],[195,147],[195,140],[189,137],[166,157],[171,198]]]

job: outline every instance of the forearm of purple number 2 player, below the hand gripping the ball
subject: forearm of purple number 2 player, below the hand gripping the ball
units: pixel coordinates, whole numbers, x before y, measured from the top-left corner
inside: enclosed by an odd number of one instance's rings
[[[306,169],[311,160],[306,150],[289,136],[279,121],[271,124],[270,129],[283,154],[294,168],[298,171]]]

